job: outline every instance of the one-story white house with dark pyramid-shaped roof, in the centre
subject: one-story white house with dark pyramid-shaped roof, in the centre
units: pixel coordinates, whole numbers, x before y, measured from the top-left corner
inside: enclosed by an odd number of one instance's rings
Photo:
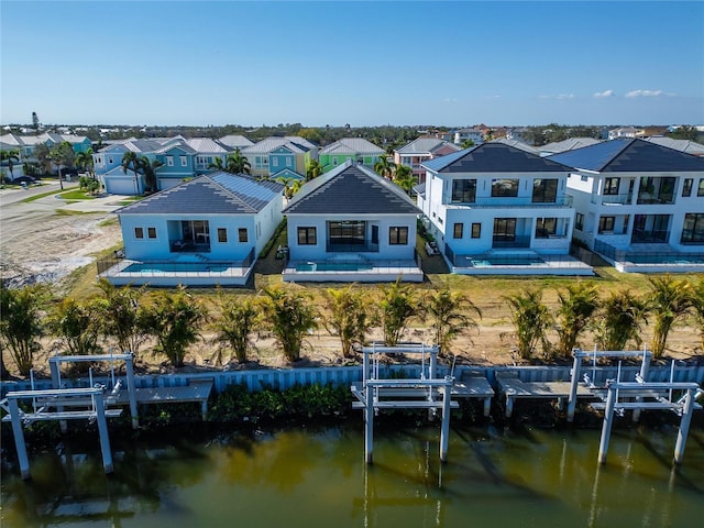
[[[348,160],[305,184],[284,209],[293,282],[422,282],[420,210],[395,184]]]

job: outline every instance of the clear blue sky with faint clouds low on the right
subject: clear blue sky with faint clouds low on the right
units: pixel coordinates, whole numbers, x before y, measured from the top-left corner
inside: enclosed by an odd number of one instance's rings
[[[704,2],[0,3],[0,121],[704,124]]]

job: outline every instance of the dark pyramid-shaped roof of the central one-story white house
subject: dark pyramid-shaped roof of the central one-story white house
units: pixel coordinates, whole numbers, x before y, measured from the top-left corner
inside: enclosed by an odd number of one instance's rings
[[[351,162],[305,184],[284,209],[289,215],[418,215],[395,184]]]

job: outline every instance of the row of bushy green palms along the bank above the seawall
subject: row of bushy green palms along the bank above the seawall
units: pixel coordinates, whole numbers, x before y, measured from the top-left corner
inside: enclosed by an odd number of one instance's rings
[[[516,360],[556,360],[569,358],[586,331],[602,350],[640,346],[642,328],[652,321],[649,348],[658,359],[672,329],[690,320],[704,349],[704,278],[657,276],[648,283],[649,290],[640,295],[622,289],[602,297],[593,283],[578,282],[558,290],[553,310],[542,301],[543,289],[504,296],[513,330],[501,339],[514,346]],[[404,341],[411,323],[430,330],[441,355],[448,355],[457,338],[480,331],[482,317],[465,294],[448,285],[421,289],[400,277],[375,289],[354,284],[326,288],[320,302],[314,301],[311,290],[296,285],[256,294],[218,290],[210,302],[185,287],[148,290],[116,287],[106,279],[98,286],[86,300],[61,301],[53,301],[41,285],[0,288],[0,343],[21,375],[29,375],[42,350],[41,339],[47,336],[58,339],[57,352],[70,355],[102,353],[105,346],[139,355],[151,340],[154,353],[180,367],[190,346],[207,344],[206,331],[212,336],[211,361],[219,365],[246,362],[260,331],[270,331],[283,356],[296,362],[315,329],[338,337],[341,356],[354,358],[373,328],[381,327],[384,344],[394,346]]]

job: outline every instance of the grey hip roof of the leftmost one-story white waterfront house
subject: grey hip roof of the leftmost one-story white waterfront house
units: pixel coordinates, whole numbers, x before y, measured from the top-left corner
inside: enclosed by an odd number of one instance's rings
[[[284,186],[250,176],[212,173],[118,209],[118,215],[254,215]]]

